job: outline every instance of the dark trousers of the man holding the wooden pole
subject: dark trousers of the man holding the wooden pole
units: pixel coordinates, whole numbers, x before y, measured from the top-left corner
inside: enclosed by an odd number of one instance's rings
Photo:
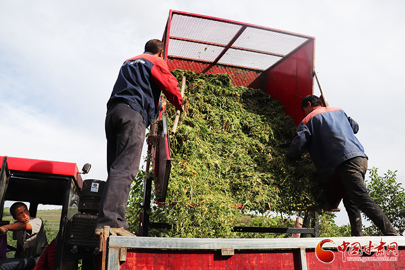
[[[108,179],[100,201],[97,227],[129,225],[125,219],[131,183],[138,173],[146,125],[142,115],[125,103],[107,110]]]

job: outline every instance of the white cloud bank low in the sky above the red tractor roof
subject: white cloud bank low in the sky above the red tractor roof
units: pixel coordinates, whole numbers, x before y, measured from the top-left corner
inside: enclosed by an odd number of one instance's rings
[[[93,133],[63,126],[52,115],[16,104],[0,104],[0,115],[6,115],[0,121],[3,156],[72,162],[79,169],[91,163],[92,178],[106,179],[102,129]]]

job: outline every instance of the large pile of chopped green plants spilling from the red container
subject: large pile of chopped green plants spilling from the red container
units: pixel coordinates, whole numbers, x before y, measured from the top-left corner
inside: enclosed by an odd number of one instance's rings
[[[307,155],[284,154],[296,125],[262,90],[233,86],[228,74],[174,70],[186,77],[185,112],[171,138],[166,200],[172,237],[234,237],[246,213],[328,207]],[[175,108],[167,105],[169,129]]]

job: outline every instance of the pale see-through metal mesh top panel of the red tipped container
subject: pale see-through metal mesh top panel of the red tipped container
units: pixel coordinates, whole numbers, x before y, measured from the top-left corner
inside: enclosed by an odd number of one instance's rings
[[[312,37],[196,14],[172,12],[168,58],[266,70]]]

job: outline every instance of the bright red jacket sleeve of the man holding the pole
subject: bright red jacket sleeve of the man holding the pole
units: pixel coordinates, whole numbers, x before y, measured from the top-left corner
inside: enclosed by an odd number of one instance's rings
[[[162,59],[157,61],[151,69],[153,81],[157,87],[165,94],[166,98],[176,108],[181,108],[183,98],[178,88],[176,78],[169,72],[168,65]]]

